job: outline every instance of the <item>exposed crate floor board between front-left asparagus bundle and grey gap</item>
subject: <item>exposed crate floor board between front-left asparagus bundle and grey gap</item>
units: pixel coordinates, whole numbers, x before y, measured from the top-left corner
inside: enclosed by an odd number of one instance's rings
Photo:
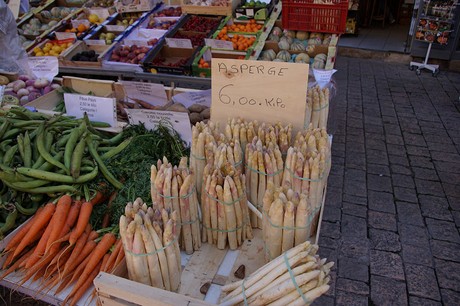
[[[182,271],[179,293],[204,299],[205,295],[200,292],[200,288],[213,280],[226,253],[226,250],[219,250],[215,245],[201,245],[201,249],[193,253]]]

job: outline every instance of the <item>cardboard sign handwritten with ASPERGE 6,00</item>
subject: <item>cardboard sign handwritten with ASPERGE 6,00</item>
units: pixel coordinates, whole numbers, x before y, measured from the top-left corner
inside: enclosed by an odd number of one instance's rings
[[[283,124],[294,132],[304,126],[309,65],[212,60],[211,120],[225,126],[229,118]]]

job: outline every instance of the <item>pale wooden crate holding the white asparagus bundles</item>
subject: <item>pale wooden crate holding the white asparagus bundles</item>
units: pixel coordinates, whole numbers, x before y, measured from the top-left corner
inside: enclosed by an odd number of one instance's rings
[[[318,242],[324,201],[327,187],[324,188],[319,222],[313,243]],[[127,279],[125,267],[115,275],[100,273],[94,279],[94,286],[102,305],[195,305],[217,304],[221,298],[221,286],[238,281],[235,271],[245,265],[246,276],[265,264],[262,231],[253,229],[254,238],[246,240],[237,250],[219,250],[216,246],[203,244],[192,255],[182,254],[182,276],[178,293],[146,286]],[[211,286],[207,294],[200,292],[205,283]]]

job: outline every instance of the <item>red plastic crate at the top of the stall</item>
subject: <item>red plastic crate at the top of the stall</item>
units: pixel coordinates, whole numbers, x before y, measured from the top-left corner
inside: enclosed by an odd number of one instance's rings
[[[283,28],[320,33],[345,33],[348,0],[315,4],[314,0],[283,0]]]

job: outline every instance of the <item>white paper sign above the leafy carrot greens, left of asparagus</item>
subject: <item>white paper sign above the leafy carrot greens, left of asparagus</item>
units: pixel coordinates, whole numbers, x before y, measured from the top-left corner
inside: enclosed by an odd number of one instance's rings
[[[188,113],[157,111],[151,109],[125,109],[130,124],[144,123],[147,129],[155,129],[164,123],[171,126],[180,137],[190,145],[192,142],[192,127]]]

